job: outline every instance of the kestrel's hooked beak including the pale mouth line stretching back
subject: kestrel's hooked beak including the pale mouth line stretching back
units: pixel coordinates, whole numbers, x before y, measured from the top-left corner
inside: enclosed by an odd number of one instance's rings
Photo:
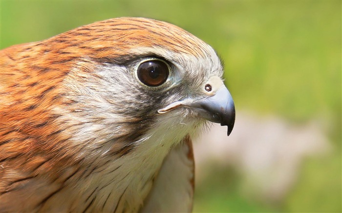
[[[212,81],[217,83],[217,79]],[[220,80],[220,82],[222,81]],[[227,135],[229,136],[235,123],[235,105],[231,94],[223,82],[218,85],[219,87],[214,88],[213,93],[207,97],[201,99],[186,98],[182,101],[176,101],[158,110],[158,113],[167,113],[181,106],[188,107],[209,121],[220,123],[221,126],[228,126]]]

